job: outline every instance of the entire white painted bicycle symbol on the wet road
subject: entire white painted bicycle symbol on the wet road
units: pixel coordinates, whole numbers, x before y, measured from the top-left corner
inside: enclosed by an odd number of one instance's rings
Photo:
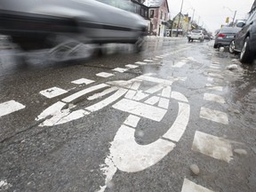
[[[116,132],[109,148],[110,154],[106,157],[105,164],[101,165],[101,171],[106,175],[106,181],[100,191],[104,191],[117,169],[123,172],[143,171],[159,162],[175,148],[175,143],[180,140],[187,128],[190,115],[188,99],[182,93],[172,91],[172,83],[178,80],[185,81],[186,78],[172,77],[172,79],[165,80],[143,75],[129,81],[97,84],[56,102],[37,116],[36,120],[44,121],[40,124],[41,126],[65,124],[107,107],[118,100],[112,107],[127,112],[129,116]],[[142,82],[155,85],[143,91],[140,90]],[[103,88],[105,88],[104,91],[89,96],[90,93]],[[87,100],[97,100],[109,93],[113,94],[84,109],[72,111],[75,106],[67,108],[71,102],[84,97],[84,95],[88,95]],[[179,111],[174,123],[170,124],[168,131],[158,140],[148,145],[138,144],[134,134],[140,119],[146,118],[161,122],[168,111],[170,100],[177,100],[179,104]]]

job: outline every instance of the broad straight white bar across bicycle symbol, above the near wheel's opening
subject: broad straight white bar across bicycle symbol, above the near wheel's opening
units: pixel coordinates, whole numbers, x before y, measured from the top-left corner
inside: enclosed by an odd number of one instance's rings
[[[165,113],[167,112],[163,108],[156,108],[154,106],[137,102],[135,100],[127,99],[118,101],[116,104],[113,105],[113,108],[128,112],[135,116],[142,116],[157,122],[160,122],[163,119]]]

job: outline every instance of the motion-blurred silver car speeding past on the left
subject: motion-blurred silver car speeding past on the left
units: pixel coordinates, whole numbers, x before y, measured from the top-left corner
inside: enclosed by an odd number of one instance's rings
[[[23,50],[67,42],[69,51],[81,43],[130,43],[141,51],[146,33],[139,15],[95,0],[0,1],[0,34],[12,36]]]

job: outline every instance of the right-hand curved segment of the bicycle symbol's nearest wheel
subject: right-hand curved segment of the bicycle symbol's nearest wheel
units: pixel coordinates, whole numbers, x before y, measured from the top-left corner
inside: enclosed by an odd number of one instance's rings
[[[189,116],[189,105],[179,102],[178,116],[172,124],[172,127],[163,135],[163,138],[178,142],[187,128]]]

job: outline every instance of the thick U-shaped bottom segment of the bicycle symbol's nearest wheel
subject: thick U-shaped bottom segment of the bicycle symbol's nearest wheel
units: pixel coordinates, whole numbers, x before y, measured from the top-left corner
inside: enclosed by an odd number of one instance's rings
[[[175,144],[168,140],[156,140],[139,145],[134,138],[135,129],[122,125],[111,142],[110,159],[123,172],[140,172],[164,158]]]

